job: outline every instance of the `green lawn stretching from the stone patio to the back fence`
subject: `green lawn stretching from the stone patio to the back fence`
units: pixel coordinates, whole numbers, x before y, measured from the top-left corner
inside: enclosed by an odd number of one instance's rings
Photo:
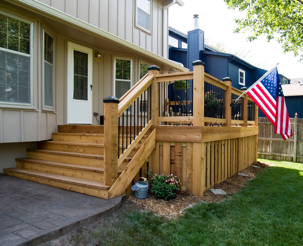
[[[127,206],[58,245],[303,245],[303,164],[259,161],[273,166],[223,202],[171,220]]]

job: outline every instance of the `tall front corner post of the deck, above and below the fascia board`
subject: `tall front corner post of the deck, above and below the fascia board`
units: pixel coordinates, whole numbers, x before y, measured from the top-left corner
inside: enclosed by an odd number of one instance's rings
[[[193,126],[204,125],[204,65],[193,62]],[[205,144],[193,143],[193,194],[203,196],[205,189]]]

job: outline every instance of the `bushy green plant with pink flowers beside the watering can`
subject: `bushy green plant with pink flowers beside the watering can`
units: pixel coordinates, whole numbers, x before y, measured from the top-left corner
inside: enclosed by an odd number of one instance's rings
[[[151,179],[151,192],[155,195],[156,199],[167,200],[173,197],[177,190],[179,190],[180,179],[172,174],[155,174]]]

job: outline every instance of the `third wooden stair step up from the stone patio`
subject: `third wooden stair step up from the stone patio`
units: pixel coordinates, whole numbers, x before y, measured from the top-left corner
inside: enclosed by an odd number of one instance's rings
[[[27,157],[32,159],[104,167],[104,155],[41,149],[29,149],[27,151]],[[127,157],[125,158],[124,162],[129,162],[130,160],[131,158]]]

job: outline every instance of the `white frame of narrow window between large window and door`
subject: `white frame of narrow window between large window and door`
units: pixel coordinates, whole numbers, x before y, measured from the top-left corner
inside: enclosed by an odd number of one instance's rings
[[[44,42],[45,42],[45,40],[44,40],[44,34],[47,34],[47,35],[49,35],[50,37],[52,37],[53,38],[53,64],[50,64],[48,61],[45,61],[44,60],[44,56],[45,56],[45,54],[44,54]],[[55,105],[55,83],[54,83],[54,61],[55,61],[55,52],[54,52],[54,50],[55,50],[55,38],[54,38],[54,35],[53,34],[51,34],[49,31],[47,31],[45,28],[43,28],[43,58],[42,58],[42,61],[43,61],[43,75],[42,75],[42,79],[43,79],[43,83],[42,83],[42,87],[43,87],[43,97],[42,97],[42,99],[43,99],[43,109],[45,109],[45,110],[54,110],[54,105]],[[49,64],[49,65],[52,65],[53,66],[53,106],[51,107],[51,106],[47,106],[47,105],[45,105],[45,90],[44,90],[44,88],[45,88],[45,81],[44,81],[44,71],[45,71],[45,68],[44,68],[44,64],[45,64],[45,62],[47,62],[47,64]]]

